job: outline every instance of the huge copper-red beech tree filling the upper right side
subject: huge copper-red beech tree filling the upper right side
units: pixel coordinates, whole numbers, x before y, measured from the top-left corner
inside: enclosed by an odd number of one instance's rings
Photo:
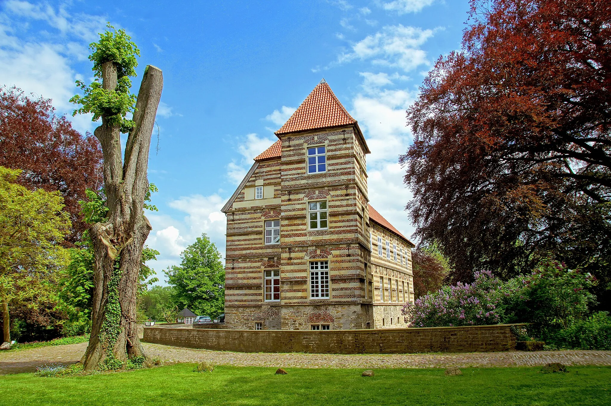
[[[468,23],[408,110],[417,234],[441,244],[455,280],[555,256],[606,289],[611,2],[472,0]]]

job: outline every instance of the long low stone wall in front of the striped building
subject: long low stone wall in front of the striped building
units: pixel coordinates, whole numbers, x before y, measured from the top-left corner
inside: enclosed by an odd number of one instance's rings
[[[146,343],[236,352],[493,352],[516,347],[511,324],[379,330],[216,330],[145,327]]]

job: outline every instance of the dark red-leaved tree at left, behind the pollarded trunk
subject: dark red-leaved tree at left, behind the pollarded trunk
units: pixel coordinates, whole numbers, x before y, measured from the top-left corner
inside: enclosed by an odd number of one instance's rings
[[[101,187],[101,158],[98,140],[56,115],[50,99],[0,88],[0,165],[23,170],[18,180],[26,187],[59,190],[70,212],[71,242],[87,228],[78,201],[86,200],[87,188]]]

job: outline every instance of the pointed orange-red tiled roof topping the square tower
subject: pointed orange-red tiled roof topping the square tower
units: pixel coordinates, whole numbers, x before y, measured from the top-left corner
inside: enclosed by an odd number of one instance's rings
[[[321,81],[286,123],[274,134],[356,124],[327,82]]]

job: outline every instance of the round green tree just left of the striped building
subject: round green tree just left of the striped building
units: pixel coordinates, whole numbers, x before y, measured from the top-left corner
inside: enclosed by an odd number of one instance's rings
[[[164,270],[174,288],[172,302],[196,314],[216,317],[224,311],[225,268],[221,253],[206,234],[182,253],[180,266]]]

